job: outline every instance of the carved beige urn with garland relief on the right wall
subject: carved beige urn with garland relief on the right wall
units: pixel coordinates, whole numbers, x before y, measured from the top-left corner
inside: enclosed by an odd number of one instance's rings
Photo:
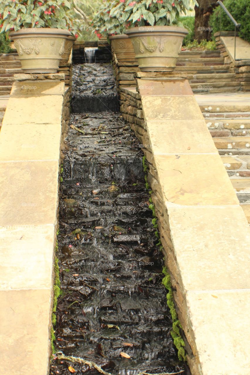
[[[187,33],[178,26],[142,26],[126,31],[142,72],[172,72]]]

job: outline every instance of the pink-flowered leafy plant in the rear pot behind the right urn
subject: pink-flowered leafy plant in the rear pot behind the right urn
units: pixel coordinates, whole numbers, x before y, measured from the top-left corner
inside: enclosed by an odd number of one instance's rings
[[[100,39],[109,35],[125,34],[129,24],[125,24],[125,0],[104,0],[92,19],[94,33]]]

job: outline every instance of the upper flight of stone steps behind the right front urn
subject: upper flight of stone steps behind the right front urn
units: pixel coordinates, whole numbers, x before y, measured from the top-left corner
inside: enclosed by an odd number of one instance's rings
[[[187,72],[194,93],[235,92],[241,88],[220,51],[182,51],[175,71]]]

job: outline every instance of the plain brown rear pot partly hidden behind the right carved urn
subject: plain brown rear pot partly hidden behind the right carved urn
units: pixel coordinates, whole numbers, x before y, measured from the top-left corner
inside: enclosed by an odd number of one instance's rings
[[[120,63],[137,62],[131,39],[126,34],[110,36],[111,46]]]

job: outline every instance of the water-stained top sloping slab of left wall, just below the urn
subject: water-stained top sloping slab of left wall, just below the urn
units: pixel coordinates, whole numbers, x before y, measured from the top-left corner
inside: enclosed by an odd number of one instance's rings
[[[65,84],[62,81],[24,81],[14,82],[11,97],[38,96],[38,95],[63,95]]]

